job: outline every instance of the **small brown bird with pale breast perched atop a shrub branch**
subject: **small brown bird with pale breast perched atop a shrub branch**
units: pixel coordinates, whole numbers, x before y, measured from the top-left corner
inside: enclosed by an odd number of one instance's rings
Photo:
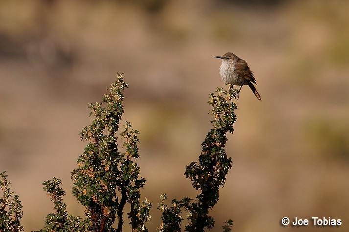
[[[242,86],[248,85],[257,99],[262,100],[256,87],[253,85],[257,84],[256,79],[245,60],[240,59],[231,52],[225,53],[223,56],[214,56],[214,58],[222,59],[222,64],[219,67],[219,75],[221,78],[230,85],[230,87],[234,85],[240,86],[240,89],[237,91],[237,99],[239,99]]]

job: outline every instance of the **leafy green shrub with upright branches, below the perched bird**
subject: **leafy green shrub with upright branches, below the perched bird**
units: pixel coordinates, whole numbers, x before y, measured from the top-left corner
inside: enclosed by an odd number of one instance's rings
[[[102,103],[89,104],[93,120],[80,133],[81,139],[88,144],[77,160],[78,167],[71,173],[74,181],[72,193],[85,206],[85,218],[67,213],[61,180],[53,177],[43,185],[53,201],[55,212],[47,215],[44,229],[40,232],[121,232],[126,205],[130,207],[127,217],[131,231],[148,231],[145,222],[151,218],[152,203],[146,198],[140,200],[140,190],[146,180],[139,177],[140,167],[136,163],[139,158],[139,132],[128,121],[119,132],[124,113],[124,89],[127,88],[123,77],[123,74],[117,74],[116,82],[111,84]],[[212,129],[201,144],[198,161],[187,165],[184,173],[198,195],[193,199],[173,199],[168,206],[167,195],[162,194],[158,204],[158,209],[162,211],[159,232],[181,231],[183,209],[188,212],[186,232],[204,232],[213,228],[214,219],[209,216],[209,210],[218,202],[219,189],[232,167],[232,160],[224,147],[226,134],[233,133],[236,121],[234,110],[237,107],[233,98],[236,98],[233,89],[217,88],[210,94],[208,103],[212,106],[209,111],[213,116]],[[121,148],[118,146],[118,135],[123,140]],[[6,177],[5,172],[1,173],[0,187],[4,194],[0,199],[0,232],[23,231],[20,224],[22,206],[18,196],[10,191]],[[229,219],[223,231],[230,232],[232,225],[233,221]]]

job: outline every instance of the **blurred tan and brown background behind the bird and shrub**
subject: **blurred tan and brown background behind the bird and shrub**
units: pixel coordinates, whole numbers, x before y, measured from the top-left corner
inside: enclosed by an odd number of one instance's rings
[[[88,103],[125,73],[124,120],[140,131],[142,192],[160,225],[159,195],[197,194],[183,173],[211,128],[209,93],[225,87],[213,56],[233,52],[254,71],[242,88],[226,151],[233,159],[213,231],[349,230],[349,1],[0,0],[0,171],[23,204],[25,231],[53,205],[42,182],[63,180],[86,143]],[[282,227],[282,217],[341,219]],[[125,231],[129,231],[128,227]]]

